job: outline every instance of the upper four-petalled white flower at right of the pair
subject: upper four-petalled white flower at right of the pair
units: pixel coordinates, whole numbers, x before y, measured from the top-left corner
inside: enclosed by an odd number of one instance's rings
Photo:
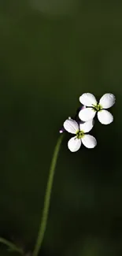
[[[115,103],[115,96],[113,94],[106,93],[98,103],[94,95],[91,93],[84,93],[79,97],[79,102],[88,106],[88,108],[79,111],[79,118],[82,121],[93,119],[98,112],[98,120],[102,124],[110,124],[113,122],[113,115],[109,113],[108,110],[105,110],[109,109]]]

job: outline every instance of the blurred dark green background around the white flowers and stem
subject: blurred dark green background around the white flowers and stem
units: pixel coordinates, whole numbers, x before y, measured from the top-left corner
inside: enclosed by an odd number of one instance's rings
[[[44,5],[44,6],[43,6]],[[94,150],[65,135],[40,255],[122,255],[122,4],[0,1],[0,236],[32,249],[58,131],[79,96],[116,95]]]

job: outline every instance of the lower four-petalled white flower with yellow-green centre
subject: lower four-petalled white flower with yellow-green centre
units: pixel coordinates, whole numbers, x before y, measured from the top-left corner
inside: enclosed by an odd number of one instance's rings
[[[93,128],[93,120],[87,121],[83,124],[78,124],[76,121],[72,119],[67,119],[64,123],[64,128],[67,132],[75,134],[75,137],[69,139],[68,141],[68,149],[72,152],[76,152],[81,147],[81,144],[87,148],[94,148],[97,145],[96,139],[91,136],[85,134],[86,132],[90,132]]]

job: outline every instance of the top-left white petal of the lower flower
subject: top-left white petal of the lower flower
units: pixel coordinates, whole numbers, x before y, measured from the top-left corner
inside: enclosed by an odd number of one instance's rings
[[[79,124],[77,124],[75,120],[67,119],[64,123],[64,128],[67,132],[76,134],[76,132],[79,131]]]

